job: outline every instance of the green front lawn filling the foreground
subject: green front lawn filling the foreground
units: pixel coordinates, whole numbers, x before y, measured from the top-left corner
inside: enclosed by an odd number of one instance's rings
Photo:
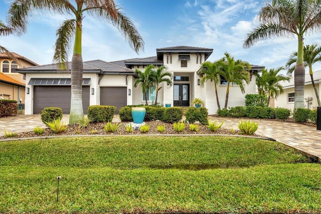
[[[316,213],[321,166],[307,162],[280,143],[235,137],[0,142],[0,213]]]

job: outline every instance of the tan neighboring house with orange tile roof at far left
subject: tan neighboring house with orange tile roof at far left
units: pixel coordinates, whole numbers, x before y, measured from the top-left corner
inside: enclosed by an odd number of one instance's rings
[[[0,53],[0,96],[24,103],[26,80],[16,69],[38,64],[16,53],[12,54],[19,60],[18,62],[9,58],[6,53]]]

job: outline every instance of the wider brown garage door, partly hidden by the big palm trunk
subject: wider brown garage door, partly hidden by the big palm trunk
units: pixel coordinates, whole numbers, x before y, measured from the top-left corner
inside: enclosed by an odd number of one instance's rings
[[[88,112],[89,86],[82,87],[82,106],[84,114]],[[70,113],[70,86],[34,86],[34,114],[40,114],[44,108],[59,107],[63,114]]]

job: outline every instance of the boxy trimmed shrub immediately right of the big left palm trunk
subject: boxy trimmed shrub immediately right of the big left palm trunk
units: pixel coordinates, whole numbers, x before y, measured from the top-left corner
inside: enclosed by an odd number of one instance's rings
[[[115,106],[90,105],[88,107],[88,119],[91,121],[91,123],[111,122],[115,111]]]

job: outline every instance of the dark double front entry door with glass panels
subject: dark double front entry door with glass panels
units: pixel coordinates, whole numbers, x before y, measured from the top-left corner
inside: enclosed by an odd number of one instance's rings
[[[174,106],[190,106],[190,84],[174,84]]]

